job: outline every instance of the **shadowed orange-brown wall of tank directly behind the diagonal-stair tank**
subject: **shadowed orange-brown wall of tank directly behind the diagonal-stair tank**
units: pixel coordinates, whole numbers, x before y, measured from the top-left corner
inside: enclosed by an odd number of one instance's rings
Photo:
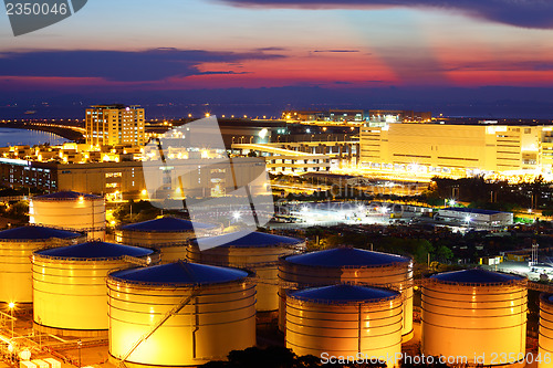
[[[301,248],[305,243],[294,246]],[[292,246],[218,246],[200,252],[198,246],[189,246],[190,262],[243,267],[254,271],[261,280],[257,285],[257,311],[279,309],[278,261],[282,255],[293,254]]]

